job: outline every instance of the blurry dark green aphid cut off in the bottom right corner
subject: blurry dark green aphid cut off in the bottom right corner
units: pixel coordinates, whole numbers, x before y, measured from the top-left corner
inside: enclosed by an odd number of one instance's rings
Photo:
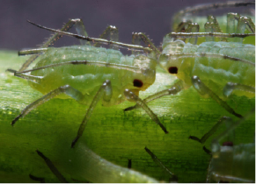
[[[219,145],[219,141],[228,136],[248,117],[252,117],[255,111],[256,108],[237,122],[233,122],[230,117],[225,117],[225,120],[222,121],[229,121],[231,125],[212,141],[212,158],[208,166],[207,183],[210,183],[211,180],[238,183],[254,183],[256,181],[256,134],[254,134],[254,143],[233,145],[232,142],[224,142],[222,146]]]

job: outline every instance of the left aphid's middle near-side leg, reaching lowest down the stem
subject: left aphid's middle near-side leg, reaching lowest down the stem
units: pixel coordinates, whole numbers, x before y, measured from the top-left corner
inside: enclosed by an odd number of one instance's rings
[[[77,131],[77,137],[74,138],[74,140],[72,141],[71,147],[74,147],[77,143],[78,138],[80,138],[83,135],[84,128],[85,128],[88,120],[91,117],[92,111],[94,110],[97,103],[99,103],[101,96],[103,96],[104,101],[106,101],[106,102],[110,101],[110,99],[112,97],[112,86],[111,86],[111,82],[109,80],[106,80],[105,82],[103,82],[103,84],[99,88],[99,91],[93,97],[93,99],[91,101],[91,105],[90,105],[89,109],[87,110],[82,123],[80,124],[79,130]]]

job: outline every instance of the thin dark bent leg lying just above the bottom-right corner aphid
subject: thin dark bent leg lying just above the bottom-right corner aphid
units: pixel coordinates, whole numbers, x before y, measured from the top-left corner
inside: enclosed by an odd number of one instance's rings
[[[222,125],[223,123],[225,123],[226,121],[232,121],[232,119],[230,117],[221,117],[218,122],[206,133],[204,134],[201,138],[197,138],[195,136],[189,136],[190,139],[193,139],[201,144],[204,144],[205,141],[211,137],[220,127],[220,125]]]

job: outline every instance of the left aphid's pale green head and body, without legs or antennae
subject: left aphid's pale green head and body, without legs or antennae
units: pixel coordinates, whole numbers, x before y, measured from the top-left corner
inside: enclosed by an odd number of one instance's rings
[[[31,74],[41,76],[40,82],[30,81],[30,85],[39,90],[42,94],[70,85],[82,94],[86,94],[83,102],[91,103],[89,99],[95,96],[99,86],[106,80],[111,81],[113,95],[110,101],[103,101],[104,105],[113,105],[125,101],[123,91],[129,88],[136,96],[140,90],[145,90],[155,81],[156,60],[143,54],[123,55],[120,51],[95,46],[67,46],[60,48],[48,48],[40,56],[35,67],[44,67],[70,60],[102,61],[119,64],[123,66],[145,68],[143,72],[121,70],[113,67],[98,67],[90,65],[69,65],[59,67],[48,67],[42,70],[35,70]],[[92,82],[93,81],[93,82]],[[67,98],[69,96],[58,96]]]

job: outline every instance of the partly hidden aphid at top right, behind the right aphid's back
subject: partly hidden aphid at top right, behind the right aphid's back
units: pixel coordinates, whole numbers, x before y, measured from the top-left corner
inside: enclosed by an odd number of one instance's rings
[[[230,1],[230,2],[224,2],[224,3],[218,3],[218,4],[201,4],[196,5],[194,7],[187,7],[184,10],[179,11],[176,13],[172,18],[172,30],[174,32],[227,32],[227,33],[243,33],[243,32],[255,32],[256,28],[252,22],[252,19],[255,18],[249,18],[248,13],[246,13],[246,16],[239,15],[238,13],[229,12],[225,16],[212,16],[208,15],[208,17],[203,16],[195,16],[195,13],[200,13],[201,11],[209,11],[213,9],[220,9],[220,8],[230,8],[230,7],[241,7],[241,6],[248,6],[256,4],[255,1],[252,2],[244,2],[244,1]],[[237,23],[236,23],[237,22]],[[236,25],[237,24],[237,25]],[[234,39],[216,39],[207,37],[205,38],[206,41],[233,41]],[[248,38],[249,39],[249,38]],[[249,41],[247,39],[247,41]],[[242,39],[235,39],[236,41],[242,41]],[[251,41],[249,41],[250,44],[254,45],[254,38],[250,38]],[[188,42],[194,43],[194,44],[201,44],[201,42],[204,41],[200,38],[200,40],[197,40],[197,38],[188,39]],[[247,42],[246,42],[247,43]]]

